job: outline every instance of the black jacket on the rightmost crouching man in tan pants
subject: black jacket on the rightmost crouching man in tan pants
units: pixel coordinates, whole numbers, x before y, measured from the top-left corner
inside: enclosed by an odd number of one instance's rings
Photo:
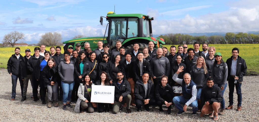
[[[206,86],[202,89],[202,94],[200,95],[200,110],[202,110],[205,102],[212,104],[213,102],[221,102],[223,99],[221,88],[213,85],[211,88]]]

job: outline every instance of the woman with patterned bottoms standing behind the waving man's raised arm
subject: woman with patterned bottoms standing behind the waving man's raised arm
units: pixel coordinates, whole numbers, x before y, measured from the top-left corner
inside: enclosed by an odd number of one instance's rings
[[[178,54],[176,56],[176,62],[173,63],[172,68],[171,68],[171,76],[174,76],[175,72],[179,69],[179,67],[183,66],[184,69],[182,72],[180,72],[177,76],[177,78],[183,79],[183,75],[186,73],[186,66],[184,63],[182,63],[183,56],[181,54]],[[177,93],[182,96],[182,85],[176,83],[174,80],[172,80],[171,86],[174,90],[175,96]]]

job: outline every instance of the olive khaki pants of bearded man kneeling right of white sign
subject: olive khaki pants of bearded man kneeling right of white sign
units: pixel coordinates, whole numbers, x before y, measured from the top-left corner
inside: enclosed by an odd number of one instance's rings
[[[127,109],[130,109],[131,95],[122,98],[121,102],[114,101],[112,113],[117,114],[120,110],[121,104],[127,103]]]

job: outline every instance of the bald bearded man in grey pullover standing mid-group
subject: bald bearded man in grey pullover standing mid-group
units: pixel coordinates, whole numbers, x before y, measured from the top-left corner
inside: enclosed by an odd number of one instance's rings
[[[169,77],[170,75],[170,62],[166,57],[163,57],[163,50],[162,48],[158,48],[157,56],[153,58],[150,62],[151,65],[151,76],[153,77],[154,87],[161,82],[161,77],[166,75]]]

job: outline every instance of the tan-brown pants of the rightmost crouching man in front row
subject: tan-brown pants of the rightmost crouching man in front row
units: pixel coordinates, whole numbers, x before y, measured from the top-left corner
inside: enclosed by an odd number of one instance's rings
[[[213,102],[212,104],[209,104],[209,105],[203,105],[201,114],[210,114],[214,110],[213,116],[218,116],[219,108],[220,108],[219,102]]]

